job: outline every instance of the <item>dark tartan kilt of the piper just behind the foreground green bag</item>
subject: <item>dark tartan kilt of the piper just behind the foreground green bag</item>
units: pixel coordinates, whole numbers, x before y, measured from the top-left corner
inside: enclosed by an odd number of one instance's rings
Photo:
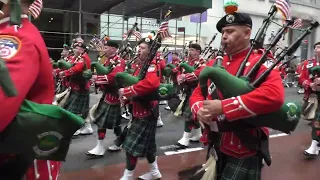
[[[76,92],[71,90],[64,109],[85,119],[89,113],[89,98],[89,91]]]

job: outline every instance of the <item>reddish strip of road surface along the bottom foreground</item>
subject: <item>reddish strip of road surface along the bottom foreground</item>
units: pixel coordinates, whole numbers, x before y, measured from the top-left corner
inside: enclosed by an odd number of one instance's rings
[[[307,160],[303,150],[309,146],[310,133],[272,138],[270,151],[272,165],[265,166],[262,170],[262,180],[318,180],[318,159]],[[177,173],[204,163],[206,152],[196,151],[185,154],[161,156],[158,164],[163,180],[178,180]],[[87,169],[83,171],[67,172],[61,174],[59,180],[119,180],[125,163]],[[138,161],[135,175],[148,171],[145,159]]]

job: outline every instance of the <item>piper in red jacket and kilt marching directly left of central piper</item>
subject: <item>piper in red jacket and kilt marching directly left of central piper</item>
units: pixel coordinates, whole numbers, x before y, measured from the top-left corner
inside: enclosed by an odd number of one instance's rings
[[[102,85],[104,101],[101,102],[99,108],[94,113],[95,123],[98,126],[98,142],[97,145],[90,151],[86,152],[89,156],[103,157],[106,148],[103,145],[103,140],[106,135],[106,130],[110,129],[114,131],[114,134],[118,137],[121,134],[121,107],[118,92],[115,84],[114,77],[118,72],[125,70],[125,61],[116,55],[119,44],[116,41],[108,40],[105,44],[105,67],[113,66],[113,70],[106,75],[98,75],[94,77],[97,85]],[[111,151],[119,151],[121,147],[113,145],[108,148]]]

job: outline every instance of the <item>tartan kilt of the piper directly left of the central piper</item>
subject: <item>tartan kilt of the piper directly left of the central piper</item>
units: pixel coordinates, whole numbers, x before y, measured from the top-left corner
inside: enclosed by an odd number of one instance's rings
[[[121,107],[119,104],[108,104],[103,101],[94,117],[98,128],[114,129],[121,125]]]

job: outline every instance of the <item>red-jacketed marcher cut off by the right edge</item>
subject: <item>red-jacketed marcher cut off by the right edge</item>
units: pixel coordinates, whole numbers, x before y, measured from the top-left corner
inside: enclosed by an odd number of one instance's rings
[[[301,76],[299,78],[299,83],[302,85],[302,87],[305,89],[304,97],[303,97],[303,106],[302,109],[305,109],[308,104],[309,100],[310,102],[313,102],[311,98],[315,97],[314,100],[317,101],[318,97],[315,95],[316,92],[320,91],[320,78],[317,76],[312,76],[310,74],[310,70],[313,67],[319,66],[320,64],[320,42],[317,42],[314,46],[314,58],[307,60],[303,63]],[[314,96],[315,95],[315,96]],[[320,151],[320,112],[318,110],[318,107],[313,107],[309,110],[310,114],[313,114],[315,112],[314,117],[310,117],[307,114],[305,115],[305,118],[307,120],[312,121],[312,141],[311,145],[308,149],[304,151],[304,155],[306,156],[318,156]],[[311,112],[312,111],[312,112]]]

